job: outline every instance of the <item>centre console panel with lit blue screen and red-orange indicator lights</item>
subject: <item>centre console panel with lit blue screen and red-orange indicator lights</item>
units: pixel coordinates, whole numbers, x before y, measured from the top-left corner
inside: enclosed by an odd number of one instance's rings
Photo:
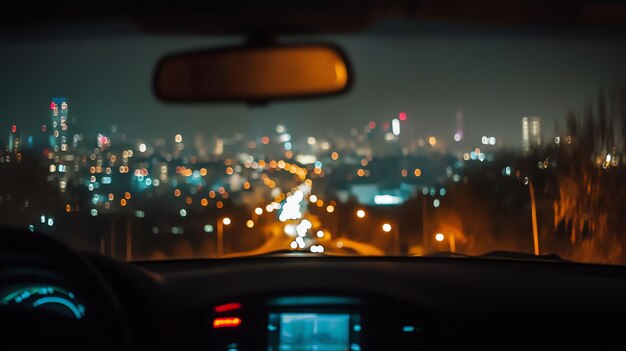
[[[376,308],[389,301],[345,296],[281,296],[217,305],[205,325],[212,350],[361,351],[427,346],[419,313]],[[391,305],[390,307],[393,307]],[[377,335],[386,335],[380,344]],[[365,347],[367,346],[367,347]]]

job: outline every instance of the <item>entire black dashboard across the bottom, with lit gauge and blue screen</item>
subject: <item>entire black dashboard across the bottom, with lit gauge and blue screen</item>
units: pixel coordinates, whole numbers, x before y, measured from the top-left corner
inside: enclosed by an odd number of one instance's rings
[[[0,328],[0,349],[13,349],[4,347],[7,334],[14,349],[31,339],[51,346],[55,335],[75,349],[103,350],[626,347],[626,267],[319,255],[126,263],[81,256],[101,284],[68,273],[73,265],[0,266],[0,322],[18,326],[10,333]],[[111,313],[117,308],[120,314]],[[33,324],[41,313],[52,319]]]

